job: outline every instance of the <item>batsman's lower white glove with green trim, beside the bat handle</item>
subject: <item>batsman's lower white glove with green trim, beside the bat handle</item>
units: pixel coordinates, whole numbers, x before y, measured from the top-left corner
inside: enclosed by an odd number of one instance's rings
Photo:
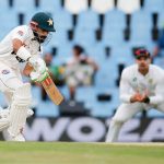
[[[47,77],[49,77],[49,73],[47,71],[43,72],[43,73],[39,73],[39,72],[36,72],[36,71],[32,71],[31,74],[31,80],[33,82],[43,82]]]

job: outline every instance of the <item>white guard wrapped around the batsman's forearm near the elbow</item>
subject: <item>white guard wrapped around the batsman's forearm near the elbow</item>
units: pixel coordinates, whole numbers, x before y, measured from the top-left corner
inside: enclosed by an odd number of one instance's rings
[[[31,54],[23,46],[19,48],[16,56],[20,57],[21,59],[25,60],[25,61],[28,60],[28,58],[31,58]]]

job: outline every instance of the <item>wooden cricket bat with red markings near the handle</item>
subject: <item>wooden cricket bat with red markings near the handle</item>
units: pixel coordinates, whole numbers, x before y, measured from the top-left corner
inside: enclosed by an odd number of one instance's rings
[[[63,101],[63,96],[60,91],[57,89],[56,84],[51,80],[50,75],[48,75],[43,82],[43,87],[45,89],[46,93],[48,94],[49,98],[56,104],[60,105]]]

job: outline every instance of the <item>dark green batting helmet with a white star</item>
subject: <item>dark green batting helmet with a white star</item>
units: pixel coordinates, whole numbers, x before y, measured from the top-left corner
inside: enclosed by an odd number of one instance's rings
[[[38,27],[47,32],[56,32],[52,17],[45,12],[38,12],[32,17],[32,22],[36,22]]]

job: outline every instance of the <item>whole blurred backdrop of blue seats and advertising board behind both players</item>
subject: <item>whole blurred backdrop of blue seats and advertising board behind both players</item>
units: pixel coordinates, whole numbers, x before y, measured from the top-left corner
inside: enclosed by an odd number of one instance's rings
[[[134,62],[133,51],[145,47],[153,63],[164,66],[163,9],[163,0],[0,0],[0,39],[39,11],[51,14],[56,28],[43,58],[66,99],[56,106],[33,84],[35,115],[26,139],[104,141],[120,104],[120,73]],[[2,95],[0,103],[7,106]],[[164,141],[163,116],[153,109],[138,114],[119,141]]]

